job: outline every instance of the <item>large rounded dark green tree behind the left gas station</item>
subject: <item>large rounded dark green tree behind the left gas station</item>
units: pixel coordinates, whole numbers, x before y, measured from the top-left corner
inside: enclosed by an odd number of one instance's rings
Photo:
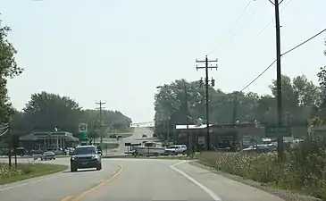
[[[33,130],[48,131],[58,128],[76,132],[83,119],[81,107],[73,99],[45,91],[31,95],[23,111]]]

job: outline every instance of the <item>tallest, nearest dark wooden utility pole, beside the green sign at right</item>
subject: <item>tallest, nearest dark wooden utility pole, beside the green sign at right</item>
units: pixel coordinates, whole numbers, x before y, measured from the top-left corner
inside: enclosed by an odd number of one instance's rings
[[[269,0],[271,3],[272,1]],[[278,126],[283,125],[283,108],[282,108],[282,82],[280,72],[280,3],[279,0],[274,0],[272,3],[275,7],[275,29],[276,29],[276,92],[277,92],[277,121]],[[278,155],[279,159],[283,159],[283,137],[278,137]]]

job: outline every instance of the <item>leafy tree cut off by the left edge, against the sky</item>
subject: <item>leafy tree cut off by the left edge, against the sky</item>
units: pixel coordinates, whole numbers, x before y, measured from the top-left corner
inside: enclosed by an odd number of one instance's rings
[[[21,69],[16,61],[14,55],[17,53],[13,44],[8,39],[8,33],[11,29],[3,26],[0,20],[0,121],[6,122],[9,113],[13,113],[13,108],[7,96],[7,79],[14,78],[21,74]]]

